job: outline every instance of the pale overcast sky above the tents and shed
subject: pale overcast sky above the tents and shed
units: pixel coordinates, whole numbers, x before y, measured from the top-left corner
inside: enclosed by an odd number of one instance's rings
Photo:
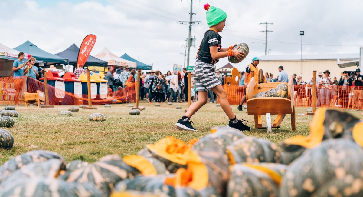
[[[254,56],[265,55],[268,30],[269,55],[359,53],[363,46],[362,0],[195,0],[190,65],[208,29],[203,5],[219,7],[228,18],[222,47],[246,43],[250,53],[234,64],[243,69]],[[15,48],[29,40],[49,52],[81,45],[86,35],[97,42],[91,55],[107,47],[117,56],[124,53],[166,72],[184,64],[183,45],[188,37],[190,0],[0,0],[0,43]],[[292,43],[292,44],[291,44]],[[336,45],[336,46],[328,46]],[[221,59],[217,68],[227,64]]]

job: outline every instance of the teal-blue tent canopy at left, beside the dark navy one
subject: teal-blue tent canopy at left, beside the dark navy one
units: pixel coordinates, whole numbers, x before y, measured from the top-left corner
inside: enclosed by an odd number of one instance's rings
[[[15,50],[31,54],[37,60],[45,61],[47,65],[50,64],[68,64],[68,59],[53,55],[38,48],[36,45],[27,40],[25,43],[14,48]]]

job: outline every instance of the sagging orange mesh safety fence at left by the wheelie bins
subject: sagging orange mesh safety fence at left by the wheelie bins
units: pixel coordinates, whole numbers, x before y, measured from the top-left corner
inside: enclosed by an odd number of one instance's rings
[[[48,80],[48,97],[50,105],[88,105],[87,94],[75,94],[55,88],[54,81]],[[37,90],[45,92],[44,83],[31,77],[0,77],[0,103],[16,104],[24,98],[24,92],[36,93]],[[117,102],[135,101],[134,88],[123,88],[107,95],[93,95],[92,105],[102,105]],[[102,98],[101,98],[102,97]]]

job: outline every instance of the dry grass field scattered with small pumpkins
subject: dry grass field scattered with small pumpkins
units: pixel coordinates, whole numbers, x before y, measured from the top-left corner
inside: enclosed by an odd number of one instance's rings
[[[0,165],[10,158],[31,150],[43,149],[60,153],[67,162],[79,159],[87,162],[97,161],[107,154],[121,156],[137,154],[147,144],[155,143],[160,138],[175,136],[185,142],[193,137],[200,138],[209,134],[213,126],[227,125],[228,118],[221,107],[208,103],[192,117],[191,121],[198,131],[180,131],[175,128],[175,122],[184,114],[187,103],[180,104],[182,109],[176,109],[179,104],[160,107],[155,103],[141,102],[146,106],[139,116],[129,115],[131,108],[127,104],[113,104],[111,108],[97,105],[98,109],[82,109],[73,112],[73,116],[60,116],[62,110],[69,106],[55,106],[55,108],[38,109],[36,106],[17,106],[19,117],[14,118],[15,125],[9,130],[14,136],[14,146],[11,150],[0,149]],[[5,105],[0,106],[4,109]],[[297,130],[291,130],[290,116],[287,115],[280,129],[273,129],[272,134],[267,134],[266,129],[254,129],[253,116],[248,116],[245,109],[237,110],[237,105],[232,105],[232,110],[239,119],[247,119],[247,125],[253,128],[244,132],[246,136],[265,138],[279,146],[285,138],[295,135],[309,135],[309,124],[313,116],[296,116]],[[297,108],[296,113],[306,113],[307,108]],[[362,117],[359,112],[347,111],[356,117]],[[107,121],[88,121],[92,113],[103,113]],[[272,120],[277,115],[272,116]],[[262,120],[265,117],[262,116]],[[265,125],[265,122],[263,122]]]

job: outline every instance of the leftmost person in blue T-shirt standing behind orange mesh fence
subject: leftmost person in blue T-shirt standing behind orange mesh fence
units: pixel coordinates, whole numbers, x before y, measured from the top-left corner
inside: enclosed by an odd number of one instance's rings
[[[18,54],[19,59],[15,60],[13,63],[14,72],[14,88],[15,88],[15,105],[19,105],[19,94],[23,88],[23,73],[24,73],[24,53],[20,52]]]

